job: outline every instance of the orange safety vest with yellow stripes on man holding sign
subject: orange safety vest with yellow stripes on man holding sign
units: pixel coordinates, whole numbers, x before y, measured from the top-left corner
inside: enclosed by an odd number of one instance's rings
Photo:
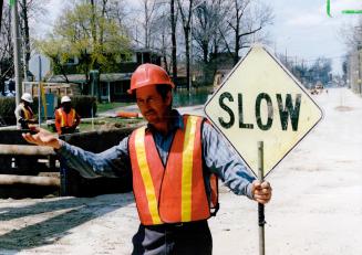
[[[130,137],[133,192],[144,225],[206,220],[218,208],[217,178],[210,178],[210,202],[206,193],[201,153],[203,118],[184,116],[184,130],[177,129],[166,166],[153,135],[142,127]]]

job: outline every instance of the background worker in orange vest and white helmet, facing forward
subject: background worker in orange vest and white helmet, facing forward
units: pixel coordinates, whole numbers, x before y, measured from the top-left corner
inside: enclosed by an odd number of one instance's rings
[[[59,135],[72,134],[81,123],[81,117],[72,108],[71,98],[63,96],[61,107],[55,110],[55,129]]]

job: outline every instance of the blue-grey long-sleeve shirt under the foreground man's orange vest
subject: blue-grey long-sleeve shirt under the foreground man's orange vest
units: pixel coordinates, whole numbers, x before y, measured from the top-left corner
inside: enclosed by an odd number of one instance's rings
[[[178,111],[174,110],[174,113],[175,118],[173,118],[170,130],[166,136],[148,126],[164,164],[176,130],[184,128],[183,117]],[[100,153],[85,151],[63,141],[58,153],[69,167],[77,170],[85,178],[118,177],[124,171],[131,171],[128,138],[124,138],[117,146]],[[255,177],[232,147],[208,123],[203,125],[201,139],[203,159],[207,168],[206,174],[216,173],[234,193],[252,199],[250,183]],[[208,176],[205,176],[205,181],[208,182]],[[209,187],[208,184],[207,187]]]

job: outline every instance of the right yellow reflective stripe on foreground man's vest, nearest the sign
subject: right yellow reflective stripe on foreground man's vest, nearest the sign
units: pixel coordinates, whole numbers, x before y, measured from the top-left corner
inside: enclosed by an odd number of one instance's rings
[[[184,151],[183,151],[183,180],[182,180],[182,222],[192,221],[193,193],[193,159],[197,117],[187,118]]]

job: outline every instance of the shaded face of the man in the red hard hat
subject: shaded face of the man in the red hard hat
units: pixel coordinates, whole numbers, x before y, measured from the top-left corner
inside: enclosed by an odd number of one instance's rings
[[[165,118],[168,116],[168,107],[172,102],[170,92],[166,98],[156,91],[156,86],[146,86],[136,89],[136,102],[141,110],[141,114],[149,124],[159,124],[166,121]]]

